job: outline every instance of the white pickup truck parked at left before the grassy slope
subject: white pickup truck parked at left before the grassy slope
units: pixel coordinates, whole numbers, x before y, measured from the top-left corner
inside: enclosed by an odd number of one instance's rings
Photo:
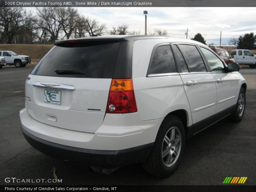
[[[8,65],[15,65],[15,67],[25,67],[31,62],[31,59],[27,55],[18,55],[12,51],[0,51],[0,56],[5,58]]]

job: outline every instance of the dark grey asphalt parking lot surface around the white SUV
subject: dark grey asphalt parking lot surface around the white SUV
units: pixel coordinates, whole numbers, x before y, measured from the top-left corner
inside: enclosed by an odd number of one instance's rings
[[[256,185],[256,68],[240,69],[248,81],[242,121],[223,119],[187,140],[179,168],[164,179],[147,174],[140,164],[122,167],[110,175],[95,173],[84,165],[54,159],[31,147],[21,133],[19,111],[25,106],[24,84],[32,68],[0,69],[1,185],[29,185],[6,183],[7,177],[54,179],[54,167],[61,185],[222,185],[225,177],[248,177],[243,185]]]

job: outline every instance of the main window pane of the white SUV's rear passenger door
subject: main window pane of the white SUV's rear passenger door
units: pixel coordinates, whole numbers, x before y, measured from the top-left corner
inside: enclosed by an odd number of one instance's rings
[[[188,64],[190,72],[206,72],[204,61],[195,45],[179,44],[179,48]]]

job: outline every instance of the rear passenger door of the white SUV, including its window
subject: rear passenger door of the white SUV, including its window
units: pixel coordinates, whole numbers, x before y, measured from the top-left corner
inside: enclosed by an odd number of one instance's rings
[[[179,62],[183,63],[179,72],[191,109],[195,134],[212,123],[217,100],[215,79],[195,44],[173,44],[173,49],[176,58],[181,58],[178,54],[184,58],[183,62]]]

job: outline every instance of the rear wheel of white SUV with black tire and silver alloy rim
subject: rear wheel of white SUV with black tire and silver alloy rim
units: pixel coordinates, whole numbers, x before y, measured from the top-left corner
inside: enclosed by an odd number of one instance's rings
[[[171,139],[169,145],[167,146],[166,144],[169,141],[167,142],[165,136],[168,136],[170,133],[171,137],[172,130],[175,132],[174,140]],[[180,141],[177,142],[177,145],[175,145],[173,142],[178,140],[178,135],[180,135]],[[167,116],[164,118],[162,124],[160,125],[151,154],[149,155],[147,161],[142,163],[142,166],[149,174],[155,175],[157,177],[168,177],[177,169],[178,165],[180,164],[180,160],[184,152],[184,147],[185,129],[183,123],[177,116]],[[175,155],[175,151],[177,156]],[[172,158],[174,159],[173,161]],[[168,159],[170,160],[170,164],[167,163]]]

